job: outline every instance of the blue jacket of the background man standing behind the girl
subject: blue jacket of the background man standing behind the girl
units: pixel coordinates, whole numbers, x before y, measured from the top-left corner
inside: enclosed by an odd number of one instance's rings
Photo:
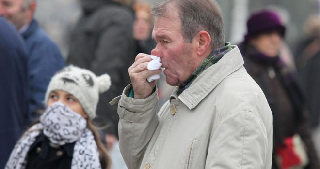
[[[45,94],[51,77],[64,67],[64,59],[57,45],[52,42],[34,19],[22,33],[28,54],[29,72],[29,123],[44,110]]]

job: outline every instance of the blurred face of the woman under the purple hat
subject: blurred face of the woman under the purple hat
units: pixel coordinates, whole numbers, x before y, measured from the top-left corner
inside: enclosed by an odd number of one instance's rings
[[[277,31],[261,34],[251,40],[256,49],[269,57],[278,56],[282,38]]]

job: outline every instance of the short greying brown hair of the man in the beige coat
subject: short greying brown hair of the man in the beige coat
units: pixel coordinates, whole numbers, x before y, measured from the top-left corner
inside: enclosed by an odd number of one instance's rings
[[[176,9],[173,9],[176,8]],[[211,36],[213,49],[224,46],[224,23],[221,9],[215,0],[167,0],[152,8],[155,17],[169,17],[178,10],[185,42],[192,42],[201,30]]]

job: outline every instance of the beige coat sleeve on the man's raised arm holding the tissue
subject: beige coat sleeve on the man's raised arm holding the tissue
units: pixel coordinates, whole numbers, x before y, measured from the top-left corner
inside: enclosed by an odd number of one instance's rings
[[[118,104],[119,147],[128,169],[139,169],[148,143],[159,124],[157,90],[146,99],[133,99],[125,93]]]

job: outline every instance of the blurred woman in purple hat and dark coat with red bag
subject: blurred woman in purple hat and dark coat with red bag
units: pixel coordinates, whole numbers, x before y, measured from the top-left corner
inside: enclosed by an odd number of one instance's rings
[[[279,57],[285,30],[275,12],[258,11],[249,17],[247,34],[239,48],[244,67],[265,93],[273,113],[272,169],[320,169],[296,74]],[[293,151],[292,141],[297,138],[302,139],[302,147],[306,145],[308,160]]]

